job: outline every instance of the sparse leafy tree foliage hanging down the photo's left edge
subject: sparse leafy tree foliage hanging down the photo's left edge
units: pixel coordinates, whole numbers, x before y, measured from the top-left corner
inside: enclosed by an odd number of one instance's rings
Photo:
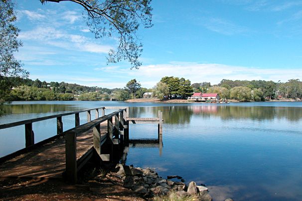
[[[13,24],[15,21],[12,0],[0,0],[0,115],[3,102],[8,98],[11,87],[15,86],[7,77],[28,77],[21,62],[13,56],[22,46],[17,40],[19,29]]]

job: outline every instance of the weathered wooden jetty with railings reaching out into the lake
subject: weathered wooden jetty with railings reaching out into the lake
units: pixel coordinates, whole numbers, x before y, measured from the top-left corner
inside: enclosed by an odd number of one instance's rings
[[[117,111],[105,115],[105,109]],[[91,111],[96,117],[91,120]],[[80,125],[79,113],[87,113]],[[100,116],[101,112],[101,117]],[[62,117],[74,115],[75,127],[63,132]],[[34,143],[32,123],[57,119],[57,134]],[[129,144],[129,124],[157,124],[162,146],[162,112],[157,118],[129,117],[129,108],[99,107],[0,125],[0,129],[24,125],[25,148],[0,158],[0,178],[56,178],[76,183],[78,171],[93,157],[112,161]],[[55,126],[55,125],[54,125]]]

